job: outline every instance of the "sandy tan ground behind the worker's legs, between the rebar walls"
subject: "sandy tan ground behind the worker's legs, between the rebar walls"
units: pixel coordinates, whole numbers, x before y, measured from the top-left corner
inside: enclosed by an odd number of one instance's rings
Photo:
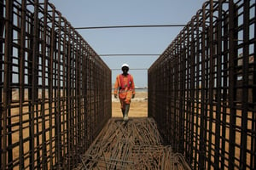
[[[122,117],[119,99],[112,97],[112,117]],[[131,99],[130,117],[148,116],[148,92],[137,92],[135,98]]]

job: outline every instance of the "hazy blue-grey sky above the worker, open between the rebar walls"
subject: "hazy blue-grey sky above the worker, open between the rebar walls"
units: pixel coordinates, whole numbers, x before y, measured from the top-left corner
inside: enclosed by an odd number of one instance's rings
[[[49,0],[74,28],[93,26],[186,25],[206,0]],[[183,26],[78,29],[79,34],[112,70],[112,83],[130,65],[137,87],[148,87],[148,68]]]

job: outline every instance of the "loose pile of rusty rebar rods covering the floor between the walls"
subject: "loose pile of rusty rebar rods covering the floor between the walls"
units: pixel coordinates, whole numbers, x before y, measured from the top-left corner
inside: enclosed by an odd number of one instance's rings
[[[181,154],[164,145],[152,118],[112,118],[76,169],[190,169]]]

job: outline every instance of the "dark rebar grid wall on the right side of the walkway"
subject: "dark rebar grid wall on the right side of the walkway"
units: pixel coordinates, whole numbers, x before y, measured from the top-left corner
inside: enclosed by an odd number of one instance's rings
[[[207,1],[148,70],[148,115],[194,169],[256,169],[255,1]]]

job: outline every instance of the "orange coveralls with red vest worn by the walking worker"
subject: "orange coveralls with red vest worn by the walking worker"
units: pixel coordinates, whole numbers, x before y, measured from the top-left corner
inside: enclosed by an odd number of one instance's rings
[[[131,74],[127,74],[126,76],[119,74],[116,77],[113,94],[117,94],[118,91],[121,109],[123,110],[125,109],[125,105],[131,103],[132,94],[135,94],[135,85]]]

